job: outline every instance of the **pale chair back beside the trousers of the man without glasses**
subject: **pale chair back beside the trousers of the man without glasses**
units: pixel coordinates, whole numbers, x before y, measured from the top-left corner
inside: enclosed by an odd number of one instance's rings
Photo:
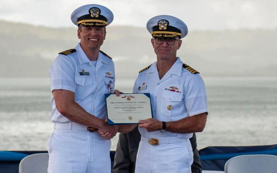
[[[19,163],[19,173],[47,173],[48,153],[31,154]]]

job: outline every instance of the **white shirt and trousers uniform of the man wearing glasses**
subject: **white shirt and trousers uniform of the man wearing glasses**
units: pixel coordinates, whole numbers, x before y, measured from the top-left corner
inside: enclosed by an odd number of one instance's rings
[[[180,58],[162,79],[159,78],[157,62],[140,72],[133,93],[150,93],[153,118],[159,121],[177,121],[208,112],[205,84],[201,76],[183,68]],[[139,132],[142,139],[136,173],[191,172],[193,152],[189,138],[192,133],[147,132],[145,128],[139,128]],[[159,144],[150,145],[149,138],[158,138]]]

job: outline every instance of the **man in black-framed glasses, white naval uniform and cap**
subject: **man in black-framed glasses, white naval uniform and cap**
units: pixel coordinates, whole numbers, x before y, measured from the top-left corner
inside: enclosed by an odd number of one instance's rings
[[[207,118],[205,84],[199,72],[177,57],[188,34],[180,19],[161,15],[147,22],[157,61],[139,72],[134,93],[150,93],[153,117],[140,120],[136,173],[190,173],[189,138],[202,132]]]

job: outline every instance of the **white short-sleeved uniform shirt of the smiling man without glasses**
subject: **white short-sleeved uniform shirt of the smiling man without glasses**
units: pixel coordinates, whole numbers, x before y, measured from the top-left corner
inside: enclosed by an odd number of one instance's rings
[[[69,90],[75,93],[75,101],[88,113],[103,119],[107,116],[105,96],[114,92],[114,62],[99,52],[96,67],[78,43],[76,52],[59,55],[50,69],[51,91]],[[53,94],[52,122],[70,122],[58,112]]]

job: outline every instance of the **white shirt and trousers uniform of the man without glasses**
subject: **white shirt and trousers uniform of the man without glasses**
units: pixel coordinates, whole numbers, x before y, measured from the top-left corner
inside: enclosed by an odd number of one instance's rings
[[[59,55],[50,68],[51,91],[69,90],[88,113],[107,116],[104,94],[114,92],[114,63],[99,52],[93,65],[80,44],[69,55]],[[110,140],[58,112],[51,94],[54,131],[49,139],[48,173],[110,173]]]

